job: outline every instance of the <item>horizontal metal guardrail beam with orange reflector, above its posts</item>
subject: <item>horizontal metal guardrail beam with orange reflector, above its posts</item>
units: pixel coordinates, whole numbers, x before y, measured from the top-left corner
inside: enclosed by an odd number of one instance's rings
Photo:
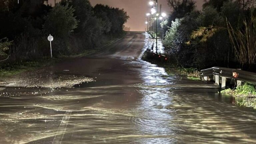
[[[209,69],[201,70],[201,77],[219,75],[226,78],[232,78],[244,82],[256,84],[256,73],[243,71],[239,69],[212,67]]]

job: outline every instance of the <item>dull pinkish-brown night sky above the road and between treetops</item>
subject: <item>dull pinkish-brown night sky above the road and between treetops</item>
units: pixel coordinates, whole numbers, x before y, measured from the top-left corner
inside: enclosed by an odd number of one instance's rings
[[[57,0],[59,1],[59,0]],[[158,0],[159,7],[162,4],[162,11],[170,13],[171,9],[167,5],[166,0]],[[197,8],[201,9],[204,0],[196,0]],[[54,0],[49,0],[49,3],[53,3]],[[124,8],[127,11],[130,19],[125,24],[126,27],[130,27],[131,31],[145,31],[145,17],[146,13],[150,12],[149,0],[90,0],[94,6],[96,4],[106,4],[111,7]],[[54,5],[54,4],[53,4]]]

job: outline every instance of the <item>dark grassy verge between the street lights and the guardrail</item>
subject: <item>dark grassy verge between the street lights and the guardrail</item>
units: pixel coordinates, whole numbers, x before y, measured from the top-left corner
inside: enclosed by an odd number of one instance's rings
[[[189,80],[201,80],[200,71],[198,69],[178,67],[174,64],[175,62],[173,62],[175,60],[172,60],[170,57],[167,57],[167,60],[165,60],[163,57],[159,58],[158,56],[152,56],[150,53],[145,51],[142,59],[163,67],[169,76],[180,75],[181,77],[186,77],[186,79]]]

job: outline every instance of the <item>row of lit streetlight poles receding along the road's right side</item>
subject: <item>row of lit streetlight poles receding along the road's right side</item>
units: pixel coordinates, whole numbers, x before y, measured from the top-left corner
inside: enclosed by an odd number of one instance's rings
[[[155,3],[156,4],[155,4]],[[155,4],[155,6],[154,6]],[[147,31],[152,35],[154,33],[156,38],[156,53],[157,53],[157,25],[158,25],[158,19],[163,20],[164,17],[166,17],[166,13],[161,12],[162,5],[160,5],[160,12],[158,12],[158,0],[151,0],[149,2],[149,5],[151,5],[151,13],[146,14],[147,21],[145,24],[147,24]],[[155,21],[154,21],[155,20]],[[155,26],[154,26],[155,23]],[[154,31],[155,29],[155,31]]]

